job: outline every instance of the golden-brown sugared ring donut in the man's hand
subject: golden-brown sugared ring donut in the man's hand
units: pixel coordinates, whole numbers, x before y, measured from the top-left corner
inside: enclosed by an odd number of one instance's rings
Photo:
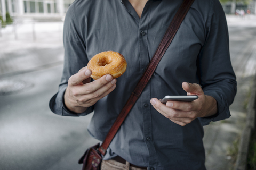
[[[107,51],[94,55],[87,64],[92,71],[91,78],[97,80],[103,75],[111,74],[113,79],[120,77],[126,71],[127,62],[120,53]]]

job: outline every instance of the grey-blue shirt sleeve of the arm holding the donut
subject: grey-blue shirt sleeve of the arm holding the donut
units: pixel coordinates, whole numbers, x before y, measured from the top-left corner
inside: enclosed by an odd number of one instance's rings
[[[93,111],[93,106],[91,106],[81,114],[71,112],[66,108],[63,100],[63,95],[68,86],[68,79],[88,63],[85,43],[83,36],[80,33],[81,27],[76,26],[79,25],[76,23],[76,19],[77,18],[74,15],[74,6],[70,5],[66,13],[63,28],[63,45],[65,53],[61,83],[59,85],[58,93],[51,98],[49,103],[53,113],[63,116],[82,116]]]

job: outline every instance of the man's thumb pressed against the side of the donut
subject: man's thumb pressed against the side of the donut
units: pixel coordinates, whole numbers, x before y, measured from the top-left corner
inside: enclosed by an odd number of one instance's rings
[[[69,78],[69,83],[71,86],[76,86],[78,84],[80,84],[82,81],[90,78],[90,75],[92,74],[92,71],[90,69],[83,68],[81,70],[78,71],[78,73],[72,75]],[[89,79],[91,80],[91,78]]]

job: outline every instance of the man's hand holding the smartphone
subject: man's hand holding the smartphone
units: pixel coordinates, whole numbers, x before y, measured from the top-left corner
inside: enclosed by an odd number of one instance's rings
[[[197,95],[198,99],[191,102],[167,101],[166,105],[157,98],[151,99],[150,102],[159,113],[181,126],[185,126],[197,117],[208,117],[217,113],[216,100],[204,95],[199,84],[183,82],[182,88],[187,95]]]

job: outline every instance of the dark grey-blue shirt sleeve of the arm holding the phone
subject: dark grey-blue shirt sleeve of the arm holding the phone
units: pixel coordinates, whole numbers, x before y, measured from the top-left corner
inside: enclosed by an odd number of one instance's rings
[[[236,95],[236,76],[231,66],[225,13],[218,0],[211,3],[205,44],[198,57],[199,76],[205,95],[215,98],[218,113],[199,118],[202,125],[230,117],[229,106]]]

